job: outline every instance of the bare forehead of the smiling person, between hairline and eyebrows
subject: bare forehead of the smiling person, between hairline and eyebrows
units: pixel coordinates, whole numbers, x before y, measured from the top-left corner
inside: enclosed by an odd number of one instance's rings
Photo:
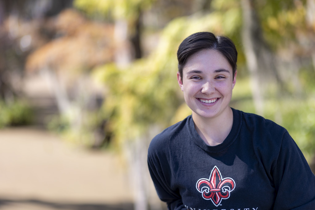
[[[203,49],[187,59],[183,73],[191,70],[214,72],[219,69],[225,69],[232,73],[232,66],[220,52],[213,49]]]

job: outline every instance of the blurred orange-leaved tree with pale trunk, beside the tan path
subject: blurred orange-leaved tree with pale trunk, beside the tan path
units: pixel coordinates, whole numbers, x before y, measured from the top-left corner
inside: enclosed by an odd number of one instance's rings
[[[51,25],[59,37],[30,54],[26,70],[39,71],[48,79],[61,117],[72,133],[69,135],[75,135],[71,139],[98,147],[103,143],[104,131],[98,135],[94,131],[102,120],[90,122],[90,118],[91,112],[99,108],[103,91],[89,74],[93,67],[114,60],[114,29],[111,24],[89,21],[73,9],[62,11]],[[93,135],[100,137],[95,139]]]

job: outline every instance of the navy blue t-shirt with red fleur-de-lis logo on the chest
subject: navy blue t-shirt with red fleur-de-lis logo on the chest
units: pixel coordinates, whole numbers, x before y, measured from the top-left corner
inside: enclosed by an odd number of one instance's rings
[[[160,199],[172,210],[315,209],[315,176],[287,130],[232,110],[220,145],[205,144],[192,116],[152,139],[148,166]]]

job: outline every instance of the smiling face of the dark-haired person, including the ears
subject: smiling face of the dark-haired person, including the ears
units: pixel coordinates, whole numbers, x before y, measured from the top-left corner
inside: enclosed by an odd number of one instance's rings
[[[232,66],[221,53],[204,49],[188,58],[183,78],[177,73],[177,81],[193,117],[215,119],[229,108],[236,73],[233,77]]]

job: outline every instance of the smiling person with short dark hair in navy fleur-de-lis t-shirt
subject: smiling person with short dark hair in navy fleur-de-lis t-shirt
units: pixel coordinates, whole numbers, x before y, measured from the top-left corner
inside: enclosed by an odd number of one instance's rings
[[[168,208],[313,209],[315,176],[287,130],[229,106],[237,75],[233,42],[195,33],[177,57],[177,81],[192,115],[154,137],[148,150],[153,183]]]

